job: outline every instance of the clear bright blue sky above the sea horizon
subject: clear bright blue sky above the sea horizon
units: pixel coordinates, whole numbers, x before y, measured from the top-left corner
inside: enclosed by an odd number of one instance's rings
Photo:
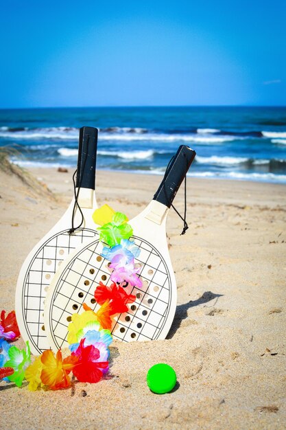
[[[9,0],[0,107],[286,105],[284,0]]]

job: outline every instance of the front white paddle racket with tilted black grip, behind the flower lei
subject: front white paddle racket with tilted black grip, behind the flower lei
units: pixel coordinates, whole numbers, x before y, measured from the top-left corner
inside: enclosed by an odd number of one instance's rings
[[[166,239],[166,219],[176,192],[195,157],[195,151],[180,146],[151,203],[130,220],[140,249],[135,266],[140,267],[141,288],[126,285],[136,295],[128,313],[116,315],[112,335],[121,341],[165,339],[176,310],[176,280]],[[82,313],[85,302],[97,311],[94,292],[99,282],[110,283],[110,262],[102,257],[104,245],[95,238],[65,260],[51,282],[45,304],[45,327],[53,350],[68,346],[67,332],[73,313]]]

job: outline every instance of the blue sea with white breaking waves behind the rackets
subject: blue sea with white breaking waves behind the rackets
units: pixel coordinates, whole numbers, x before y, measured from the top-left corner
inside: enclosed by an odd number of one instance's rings
[[[163,174],[180,144],[190,176],[286,183],[285,107],[0,110],[0,146],[21,166],[76,166],[78,128],[99,128],[97,168]]]

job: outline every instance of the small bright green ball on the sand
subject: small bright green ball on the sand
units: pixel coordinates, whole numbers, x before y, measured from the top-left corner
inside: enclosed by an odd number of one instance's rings
[[[147,372],[147,385],[156,394],[169,393],[176,385],[177,376],[173,367],[158,363]]]

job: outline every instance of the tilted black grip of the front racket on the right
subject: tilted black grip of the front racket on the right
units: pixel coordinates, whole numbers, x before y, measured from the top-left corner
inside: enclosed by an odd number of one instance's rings
[[[171,207],[171,203],[173,203],[194,158],[195,151],[189,148],[189,146],[181,145],[178,148],[176,155],[171,159],[163,181],[154,194],[154,200],[163,203],[167,207]]]

